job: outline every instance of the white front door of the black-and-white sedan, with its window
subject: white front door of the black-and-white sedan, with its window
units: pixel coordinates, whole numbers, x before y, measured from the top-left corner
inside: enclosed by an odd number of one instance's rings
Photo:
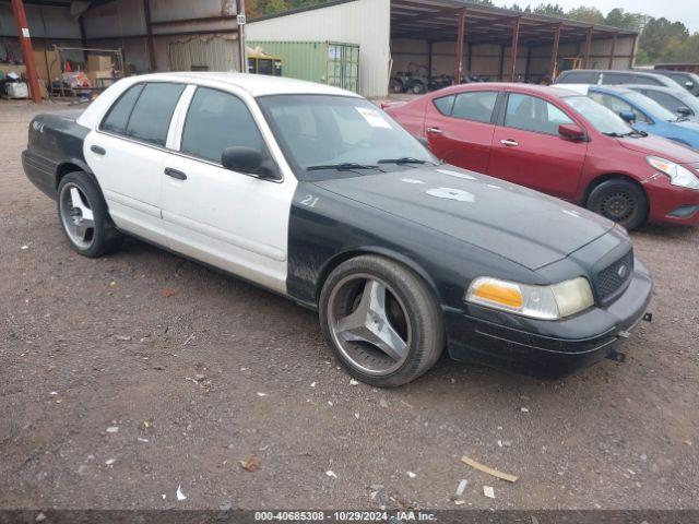
[[[288,169],[285,178],[271,180],[224,168],[222,154],[232,146],[252,147],[277,166],[283,158],[249,95],[192,90],[178,108],[178,140],[162,170],[168,246],[285,293],[288,216],[297,182]]]

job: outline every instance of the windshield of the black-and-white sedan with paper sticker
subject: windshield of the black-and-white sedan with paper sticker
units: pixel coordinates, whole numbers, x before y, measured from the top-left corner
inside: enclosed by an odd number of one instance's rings
[[[301,180],[438,163],[423,144],[364,98],[272,95],[258,103]]]

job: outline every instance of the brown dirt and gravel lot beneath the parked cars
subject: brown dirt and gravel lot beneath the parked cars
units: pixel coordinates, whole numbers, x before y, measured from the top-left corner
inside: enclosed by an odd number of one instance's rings
[[[381,391],[282,298],[134,240],[71,251],[22,172],[34,112],[0,102],[0,508],[454,508],[462,478],[472,508],[699,508],[699,230],[633,235],[656,289],[626,364],[442,359]]]

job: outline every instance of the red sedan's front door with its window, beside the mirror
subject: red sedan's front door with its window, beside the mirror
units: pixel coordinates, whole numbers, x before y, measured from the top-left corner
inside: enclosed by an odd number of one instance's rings
[[[543,98],[509,93],[487,174],[573,201],[588,142],[564,139],[558,134],[561,124],[578,126]]]

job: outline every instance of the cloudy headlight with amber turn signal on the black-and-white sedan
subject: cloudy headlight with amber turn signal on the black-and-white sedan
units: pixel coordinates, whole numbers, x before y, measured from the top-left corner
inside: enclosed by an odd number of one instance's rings
[[[489,276],[474,278],[464,297],[467,302],[540,320],[557,320],[594,305],[587,278],[553,286],[530,286]]]

